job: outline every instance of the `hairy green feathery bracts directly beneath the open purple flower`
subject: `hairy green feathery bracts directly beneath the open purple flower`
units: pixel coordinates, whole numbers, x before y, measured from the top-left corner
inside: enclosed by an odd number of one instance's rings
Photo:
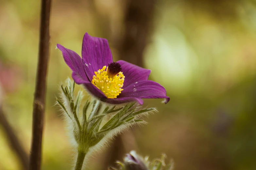
[[[104,149],[106,142],[134,124],[145,124],[143,115],[155,108],[138,107],[136,103],[110,105],[97,99],[84,100],[83,92],[74,92],[75,83],[70,79],[61,85],[57,104],[63,111],[71,132],[71,139],[79,152],[86,157]],[[90,98],[90,97],[89,97]],[[80,158],[79,158],[80,159]],[[82,158],[81,158],[82,159]]]

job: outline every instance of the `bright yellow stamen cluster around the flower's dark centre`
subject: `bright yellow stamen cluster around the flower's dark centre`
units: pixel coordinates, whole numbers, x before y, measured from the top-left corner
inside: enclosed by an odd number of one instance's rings
[[[108,72],[108,67],[104,66],[102,69],[94,71],[94,73],[92,83],[101,90],[107,98],[114,99],[124,90],[122,89],[125,80],[123,72],[111,75]]]

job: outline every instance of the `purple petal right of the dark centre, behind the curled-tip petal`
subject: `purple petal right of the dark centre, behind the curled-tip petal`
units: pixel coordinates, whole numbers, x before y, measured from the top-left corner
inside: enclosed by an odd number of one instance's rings
[[[135,83],[141,80],[147,80],[151,72],[151,70],[149,69],[139,67],[137,65],[128,63],[123,60],[119,60],[117,61],[117,63],[121,65],[123,75],[125,76],[123,89],[132,83]]]

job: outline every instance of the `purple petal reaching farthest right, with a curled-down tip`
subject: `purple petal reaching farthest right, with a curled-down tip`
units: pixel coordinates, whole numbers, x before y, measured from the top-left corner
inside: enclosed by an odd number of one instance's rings
[[[159,83],[151,80],[142,80],[137,83],[132,83],[119,94],[122,97],[136,97],[140,99],[157,99],[164,98],[165,104],[170,101],[166,96],[166,90]]]

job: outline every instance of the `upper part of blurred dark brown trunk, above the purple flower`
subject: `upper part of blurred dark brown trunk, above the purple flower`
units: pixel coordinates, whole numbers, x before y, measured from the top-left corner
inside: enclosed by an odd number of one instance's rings
[[[156,0],[127,0],[125,34],[118,46],[121,60],[143,66],[155,5]]]

